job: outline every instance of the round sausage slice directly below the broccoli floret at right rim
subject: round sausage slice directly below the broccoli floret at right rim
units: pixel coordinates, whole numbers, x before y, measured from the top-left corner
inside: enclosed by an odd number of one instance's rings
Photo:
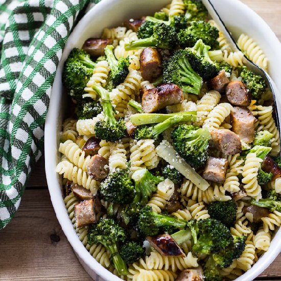
[[[233,105],[248,106],[251,104],[251,93],[241,81],[231,81],[225,90],[228,101]]]

